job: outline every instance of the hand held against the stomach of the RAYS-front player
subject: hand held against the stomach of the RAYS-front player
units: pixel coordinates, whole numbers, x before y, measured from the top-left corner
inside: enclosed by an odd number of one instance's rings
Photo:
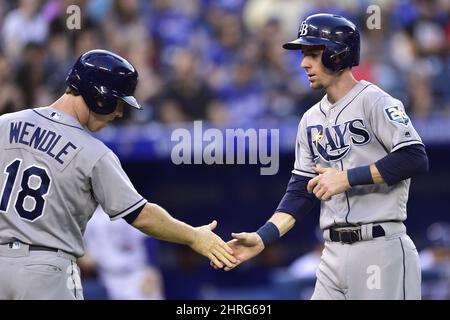
[[[330,200],[332,196],[350,189],[347,171],[334,168],[313,168],[319,175],[308,182],[308,192],[313,192],[317,199]]]

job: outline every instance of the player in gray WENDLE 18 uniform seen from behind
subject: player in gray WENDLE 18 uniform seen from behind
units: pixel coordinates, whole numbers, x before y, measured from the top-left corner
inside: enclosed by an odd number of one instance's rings
[[[89,51],[51,106],[0,117],[0,299],[82,299],[75,261],[98,204],[111,220],[233,266],[232,250],[211,231],[216,221],[194,228],[147,202],[88,133],[121,117],[125,105],[141,108],[137,79],[122,57]]]

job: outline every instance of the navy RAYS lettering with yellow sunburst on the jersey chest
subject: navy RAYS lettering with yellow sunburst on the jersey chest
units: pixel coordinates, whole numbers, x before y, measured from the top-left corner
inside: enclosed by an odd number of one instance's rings
[[[370,134],[362,119],[353,119],[331,127],[321,124],[306,128],[308,144],[313,159],[319,156],[325,161],[338,161],[350,151],[351,145],[364,145]]]

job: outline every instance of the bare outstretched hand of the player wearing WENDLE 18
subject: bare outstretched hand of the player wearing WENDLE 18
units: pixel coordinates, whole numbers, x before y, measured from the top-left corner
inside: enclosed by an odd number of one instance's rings
[[[212,230],[217,227],[217,221],[210,224],[197,227],[194,242],[191,248],[211,260],[211,263],[217,268],[234,268],[236,258],[233,257],[233,250]]]

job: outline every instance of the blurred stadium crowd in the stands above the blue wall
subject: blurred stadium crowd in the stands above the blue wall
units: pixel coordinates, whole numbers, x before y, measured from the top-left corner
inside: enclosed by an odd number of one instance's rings
[[[69,30],[66,8],[81,8]],[[366,9],[381,8],[369,30]],[[127,123],[207,119],[239,124],[299,117],[320,98],[299,68],[299,18],[334,12],[362,31],[359,79],[401,99],[411,115],[450,110],[448,0],[0,0],[0,114],[51,103],[81,53],[104,48],[140,73],[138,99],[148,108]]]

